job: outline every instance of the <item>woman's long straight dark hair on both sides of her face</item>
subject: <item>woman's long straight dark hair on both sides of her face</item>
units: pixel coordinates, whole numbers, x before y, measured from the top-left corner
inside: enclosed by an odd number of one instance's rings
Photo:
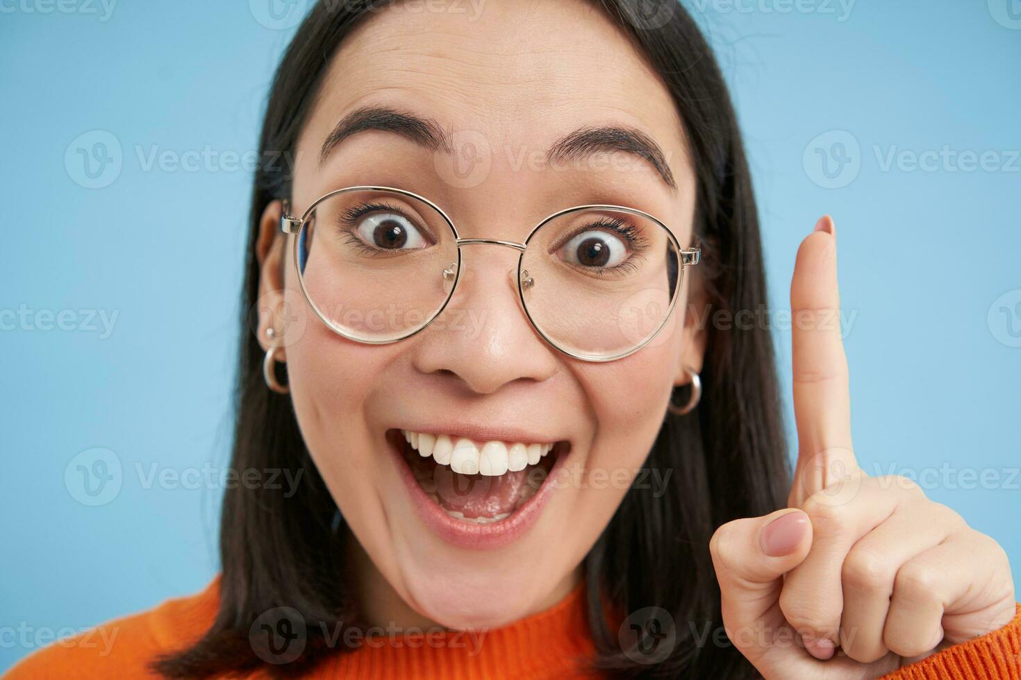
[[[700,284],[715,311],[731,314],[767,304],[759,220],[736,117],[717,61],[677,0],[659,0],[654,23],[635,12],[642,0],[592,0],[629,35],[670,91],[697,178],[695,232],[702,245]],[[313,105],[332,55],[361,20],[364,2],[321,2],[291,41],[270,93],[260,153],[290,153]],[[664,14],[663,12],[667,13]],[[663,20],[667,17],[666,20]],[[277,674],[307,671],[336,652],[322,630],[357,625],[355,597],[344,582],[347,532],[302,441],[290,399],[262,379],[262,350],[247,311],[258,297],[256,243],[266,205],[290,193],[278,164],[255,173],[243,291],[237,420],[232,468],[301,470],[290,498],[279,489],[226,491],[220,534],[223,573],[220,609],[208,631],[190,647],[153,668],[169,677],[208,677],[264,665],[249,632],[278,607],[293,608],[308,626],[301,657],[272,667]],[[704,385],[697,409],[670,416],[648,467],[673,470],[661,498],[632,488],[585,560],[589,627],[595,667],[620,677],[745,677],[751,666],[730,645],[719,645],[720,591],[709,542],[717,526],[782,507],[789,485],[773,344],[760,324],[744,330],[707,327]],[[675,395],[683,403],[685,395]],[[676,644],[665,661],[641,665],[620,648],[604,607],[628,613],[646,607],[669,612]],[[711,631],[707,636],[706,631]]]

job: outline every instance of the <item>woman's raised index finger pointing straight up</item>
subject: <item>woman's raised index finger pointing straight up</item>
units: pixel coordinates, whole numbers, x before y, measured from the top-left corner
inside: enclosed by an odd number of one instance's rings
[[[836,229],[829,215],[801,242],[790,284],[797,466],[790,504],[858,470],[847,359],[840,337]]]

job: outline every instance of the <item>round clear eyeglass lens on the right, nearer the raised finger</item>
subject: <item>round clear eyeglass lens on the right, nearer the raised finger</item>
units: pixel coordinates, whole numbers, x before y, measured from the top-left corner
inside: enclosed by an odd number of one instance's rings
[[[648,343],[680,290],[677,242],[661,222],[621,208],[581,208],[529,238],[519,277],[539,331],[568,354],[615,359]]]

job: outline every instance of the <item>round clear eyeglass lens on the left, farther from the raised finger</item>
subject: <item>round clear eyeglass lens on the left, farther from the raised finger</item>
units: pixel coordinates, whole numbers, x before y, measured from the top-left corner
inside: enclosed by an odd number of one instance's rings
[[[457,277],[453,227],[415,196],[355,188],[304,216],[295,263],[309,303],[337,332],[388,343],[423,328]]]

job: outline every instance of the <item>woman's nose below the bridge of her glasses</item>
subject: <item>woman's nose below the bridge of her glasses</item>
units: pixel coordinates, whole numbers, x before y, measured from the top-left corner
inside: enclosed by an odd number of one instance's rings
[[[455,376],[479,395],[550,378],[556,351],[536,334],[518,299],[518,251],[493,244],[466,251],[453,296],[416,345],[416,368]]]

